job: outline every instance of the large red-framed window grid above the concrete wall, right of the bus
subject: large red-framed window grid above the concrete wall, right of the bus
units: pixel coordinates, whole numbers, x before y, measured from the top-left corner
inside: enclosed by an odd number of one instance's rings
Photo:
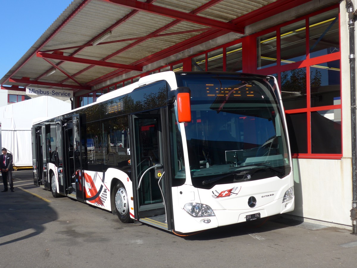
[[[278,74],[293,157],[342,157],[338,14],[330,8],[278,25],[276,52],[266,47],[275,40],[271,34],[256,37],[256,72]],[[280,59],[269,65],[275,53]]]

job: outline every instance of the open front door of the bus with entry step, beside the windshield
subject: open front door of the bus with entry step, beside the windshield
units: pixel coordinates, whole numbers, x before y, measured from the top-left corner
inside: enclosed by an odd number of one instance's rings
[[[131,115],[131,165],[135,218],[171,230],[170,178],[167,172],[166,109]]]

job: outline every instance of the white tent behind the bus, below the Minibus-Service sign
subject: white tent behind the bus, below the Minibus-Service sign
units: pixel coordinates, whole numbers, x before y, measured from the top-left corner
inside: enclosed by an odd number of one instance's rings
[[[69,110],[70,103],[50,96],[0,107],[1,144],[12,153],[14,166],[32,167],[32,121],[35,118],[51,118]]]

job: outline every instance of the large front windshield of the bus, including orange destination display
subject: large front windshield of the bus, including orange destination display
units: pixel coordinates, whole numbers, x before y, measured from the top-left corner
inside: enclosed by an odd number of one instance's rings
[[[195,187],[282,178],[290,172],[272,78],[206,73],[182,74],[177,80],[191,90],[192,121],[185,123],[185,133]]]

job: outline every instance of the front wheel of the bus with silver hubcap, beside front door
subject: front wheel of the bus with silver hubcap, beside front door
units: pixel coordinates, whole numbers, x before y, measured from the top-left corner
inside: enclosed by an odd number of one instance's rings
[[[126,193],[125,187],[121,182],[117,182],[114,192],[113,200],[115,212],[122,223],[132,223],[133,219],[129,214],[129,198]]]

